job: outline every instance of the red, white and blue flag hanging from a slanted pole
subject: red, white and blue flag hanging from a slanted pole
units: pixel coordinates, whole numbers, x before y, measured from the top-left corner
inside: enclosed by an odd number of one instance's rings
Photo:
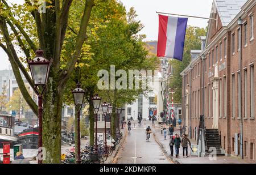
[[[182,61],[188,18],[159,15],[158,57]]]

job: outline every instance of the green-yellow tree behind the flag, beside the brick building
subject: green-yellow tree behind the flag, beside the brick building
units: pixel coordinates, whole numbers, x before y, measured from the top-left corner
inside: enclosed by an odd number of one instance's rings
[[[178,61],[176,59],[172,59],[170,61],[170,65],[174,69],[174,74],[170,78],[170,88],[175,92],[174,93],[174,101],[175,103],[181,103],[182,96],[182,76],[180,72],[183,71],[191,62],[191,53],[192,49],[201,49],[201,40],[200,36],[206,35],[206,29],[199,27],[191,27],[187,28],[186,36],[185,36],[185,45],[184,45],[184,53],[183,53],[183,61]]]

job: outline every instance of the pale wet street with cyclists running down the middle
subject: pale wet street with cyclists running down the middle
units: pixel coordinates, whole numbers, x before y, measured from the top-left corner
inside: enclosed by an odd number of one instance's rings
[[[132,121],[131,131],[127,133],[125,142],[117,155],[117,163],[119,164],[169,164],[170,161],[164,156],[160,150],[158,143],[155,142],[154,136],[151,134],[149,142],[146,141],[146,129],[144,122],[138,126],[138,121]],[[135,129],[134,129],[135,123]],[[146,121],[146,126],[150,125],[150,121]],[[154,131],[153,131],[154,132]]]

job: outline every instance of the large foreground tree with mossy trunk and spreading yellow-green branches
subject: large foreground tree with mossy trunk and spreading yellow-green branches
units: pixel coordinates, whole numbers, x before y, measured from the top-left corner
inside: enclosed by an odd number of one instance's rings
[[[45,12],[38,11],[41,7],[39,3],[25,2],[23,5],[9,6],[5,0],[0,1],[0,46],[9,57],[24,100],[35,114],[38,114],[37,105],[27,92],[20,71],[34,90],[35,87],[22,62],[26,63],[35,57],[39,47],[44,50],[44,57],[51,61],[47,88],[43,95],[43,147],[47,151],[44,163],[61,163],[61,106],[64,88],[86,40],[94,0],[82,1],[84,6],[76,26],[78,32],[72,43],[68,42],[67,31],[73,30],[68,27],[71,24],[69,19],[73,19],[70,9],[75,8],[77,1],[47,0]],[[61,54],[69,44],[73,47],[63,62]],[[18,52],[22,52],[24,57],[19,58]]]

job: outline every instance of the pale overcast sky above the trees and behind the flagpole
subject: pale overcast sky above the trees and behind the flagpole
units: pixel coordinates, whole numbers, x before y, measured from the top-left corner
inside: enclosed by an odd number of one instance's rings
[[[169,12],[173,14],[192,15],[209,18],[210,8],[213,0],[120,0],[128,11],[134,7],[144,28],[140,32],[146,34],[148,40],[158,38],[158,14],[159,12]],[[12,3],[22,3],[23,0],[8,0]],[[188,18],[188,25],[197,27],[207,27],[207,19]],[[0,48],[0,70],[9,69],[9,60]]]

